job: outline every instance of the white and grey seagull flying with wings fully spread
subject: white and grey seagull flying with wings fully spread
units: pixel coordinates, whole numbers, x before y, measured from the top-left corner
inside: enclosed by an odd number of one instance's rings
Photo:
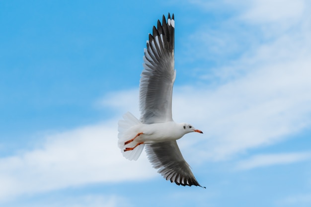
[[[138,120],[127,112],[118,122],[118,146],[124,157],[137,160],[145,145],[149,161],[166,180],[182,186],[200,186],[183,158],[176,140],[191,132],[202,133],[191,124],[172,119],[174,69],[174,14],[162,24],[157,20],[149,34],[140,79]]]

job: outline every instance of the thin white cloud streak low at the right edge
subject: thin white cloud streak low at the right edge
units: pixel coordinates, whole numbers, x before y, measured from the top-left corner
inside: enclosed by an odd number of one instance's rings
[[[277,164],[290,164],[293,162],[305,161],[311,158],[311,152],[259,154],[246,160],[239,161],[236,170],[249,170],[257,167],[266,167]]]

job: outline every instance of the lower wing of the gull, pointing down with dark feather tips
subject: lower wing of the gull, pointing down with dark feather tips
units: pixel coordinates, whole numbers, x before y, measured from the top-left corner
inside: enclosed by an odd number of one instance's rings
[[[190,170],[189,164],[182,157],[177,142],[165,141],[146,144],[148,159],[166,180],[182,186],[200,186]]]

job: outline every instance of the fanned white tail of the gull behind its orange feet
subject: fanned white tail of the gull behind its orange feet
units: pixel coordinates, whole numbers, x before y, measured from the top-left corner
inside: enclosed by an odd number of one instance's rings
[[[130,112],[127,112],[123,115],[123,120],[118,122],[118,146],[121,149],[123,156],[129,160],[137,160],[141,155],[145,144],[138,145],[133,150],[124,151],[126,147],[134,147],[138,141],[134,139],[134,141],[124,145],[124,142],[134,138],[138,133],[137,129],[139,127],[135,127],[141,125],[142,123]]]

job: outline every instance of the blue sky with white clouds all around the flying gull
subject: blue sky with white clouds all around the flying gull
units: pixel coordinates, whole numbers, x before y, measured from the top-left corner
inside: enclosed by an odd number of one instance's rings
[[[202,186],[125,159],[148,33],[175,15],[173,118]],[[0,1],[0,206],[309,207],[307,0]]]

